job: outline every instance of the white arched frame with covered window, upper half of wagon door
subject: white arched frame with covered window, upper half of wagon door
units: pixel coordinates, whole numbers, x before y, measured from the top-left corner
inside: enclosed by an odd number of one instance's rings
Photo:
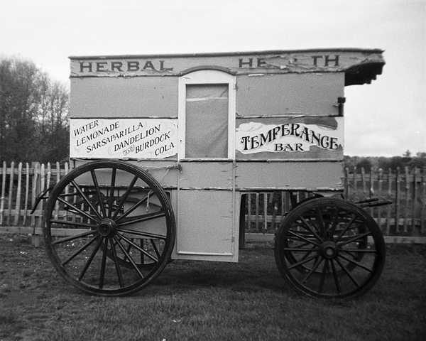
[[[218,70],[179,80],[180,158],[233,159],[235,77]]]

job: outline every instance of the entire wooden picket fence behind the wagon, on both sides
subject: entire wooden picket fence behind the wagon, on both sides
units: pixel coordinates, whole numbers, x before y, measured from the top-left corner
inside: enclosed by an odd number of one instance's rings
[[[40,231],[42,205],[31,215],[36,198],[57,183],[69,171],[67,163],[11,163],[0,169],[0,231],[9,227],[32,227]],[[297,192],[297,200],[309,193]],[[364,169],[349,171],[344,176],[344,197],[360,201],[377,197],[391,205],[369,208],[386,236],[426,237],[426,169],[405,168],[396,172]],[[244,215],[247,233],[272,234],[290,209],[290,194],[249,193]]]

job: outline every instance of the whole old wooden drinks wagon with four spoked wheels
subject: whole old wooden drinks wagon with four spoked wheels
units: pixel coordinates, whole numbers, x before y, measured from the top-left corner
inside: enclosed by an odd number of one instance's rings
[[[280,273],[308,296],[365,293],[385,244],[341,198],[344,87],[381,74],[382,52],[71,57],[74,169],[43,222],[55,268],[86,293],[123,296],[173,259],[236,262],[245,195],[304,191],[275,234]]]

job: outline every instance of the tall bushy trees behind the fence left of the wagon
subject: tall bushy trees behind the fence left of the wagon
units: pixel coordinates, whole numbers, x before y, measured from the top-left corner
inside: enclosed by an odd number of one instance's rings
[[[69,154],[70,92],[35,63],[0,58],[0,161],[57,162]]]

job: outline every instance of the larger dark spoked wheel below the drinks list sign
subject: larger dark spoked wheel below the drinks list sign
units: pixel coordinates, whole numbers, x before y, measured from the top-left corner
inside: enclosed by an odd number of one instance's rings
[[[167,193],[151,175],[121,161],[94,161],[65,175],[50,194],[43,223],[55,269],[92,295],[124,296],[148,286],[175,242]]]

